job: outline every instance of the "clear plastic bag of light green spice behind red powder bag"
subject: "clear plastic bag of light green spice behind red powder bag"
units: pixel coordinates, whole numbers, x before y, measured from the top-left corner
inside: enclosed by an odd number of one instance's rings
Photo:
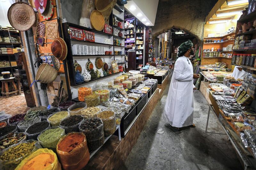
[[[40,140],[40,135],[44,134],[44,133],[48,133],[50,129],[57,129],[60,128],[60,133],[58,135],[54,134],[54,133],[49,133],[47,136],[49,137],[47,139],[47,141],[42,141],[42,139]],[[55,149],[60,138],[63,137],[66,133],[65,133],[65,129],[55,126],[55,127],[51,127],[50,129],[46,129],[44,131],[42,131],[38,137],[37,137],[37,141],[43,146],[43,148],[49,148],[49,149]],[[53,135],[54,134],[54,135]],[[45,135],[45,134],[44,134]]]

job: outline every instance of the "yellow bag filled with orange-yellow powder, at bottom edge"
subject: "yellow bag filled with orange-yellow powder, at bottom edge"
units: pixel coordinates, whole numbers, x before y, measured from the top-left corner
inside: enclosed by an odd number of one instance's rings
[[[50,149],[41,148],[23,159],[16,167],[16,170],[24,169],[61,170],[61,165],[56,153]]]

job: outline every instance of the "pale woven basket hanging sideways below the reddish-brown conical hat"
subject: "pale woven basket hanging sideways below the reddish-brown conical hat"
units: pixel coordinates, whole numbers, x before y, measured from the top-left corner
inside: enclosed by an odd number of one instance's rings
[[[58,71],[54,69],[50,64],[43,63],[39,66],[36,72],[36,80],[40,83],[52,83],[58,75]]]

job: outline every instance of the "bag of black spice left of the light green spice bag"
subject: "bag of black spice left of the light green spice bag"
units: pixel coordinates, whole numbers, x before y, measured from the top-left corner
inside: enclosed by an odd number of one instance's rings
[[[51,127],[50,123],[47,121],[36,122],[26,129],[25,133],[28,139],[37,139],[38,135],[45,129]]]

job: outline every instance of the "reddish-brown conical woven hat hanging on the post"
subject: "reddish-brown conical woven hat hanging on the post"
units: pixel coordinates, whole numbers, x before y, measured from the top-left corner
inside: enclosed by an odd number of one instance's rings
[[[62,38],[56,38],[51,46],[52,54],[59,60],[63,61],[67,57],[68,48],[66,42]]]

